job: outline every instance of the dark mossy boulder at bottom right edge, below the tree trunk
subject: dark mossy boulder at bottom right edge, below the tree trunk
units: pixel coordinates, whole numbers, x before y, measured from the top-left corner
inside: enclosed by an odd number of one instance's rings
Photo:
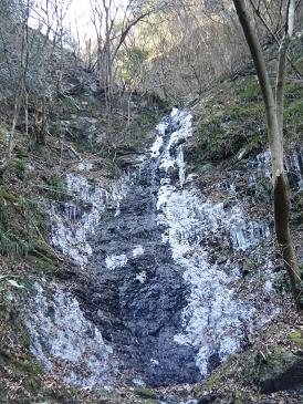
[[[259,385],[262,393],[272,393],[303,385],[303,356],[284,346],[276,346],[260,364]]]

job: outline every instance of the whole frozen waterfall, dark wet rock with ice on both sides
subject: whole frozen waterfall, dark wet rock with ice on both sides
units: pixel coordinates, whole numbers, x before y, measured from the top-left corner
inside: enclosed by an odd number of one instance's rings
[[[195,173],[187,175],[185,148],[191,137],[190,112],[174,108],[157,125],[148,158],[132,166],[137,174],[106,188],[90,183],[85,170],[92,167],[83,165],[81,174],[66,176],[72,201],[64,209],[52,207],[54,246],[85,271],[71,287],[73,294],[56,291],[50,305],[66,312],[81,307],[81,328],[87,321],[93,346],[98,341],[103,348],[102,354],[92,353],[101,355],[100,373],[84,384],[104,383],[111,350],[125,383],[197,382],[279,311],[272,302],[271,255],[262,252],[270,250],[270,224],[250,215],[232,183],[198,187]],[[268,176],[267,160],[267,155],[257,159],[258,178]],[[222,197],[216,199],[213,190]],[[242,292],[249,260],[258,267],[247,280],[250,298]],[[253,287],[258,282],[263,288]],[[35,354],[51,369],[36,342],[38,324],[49,330],[56,320],[39,288],[29,328]],[[48,343],[50,355],[66,360],[54,339]]]

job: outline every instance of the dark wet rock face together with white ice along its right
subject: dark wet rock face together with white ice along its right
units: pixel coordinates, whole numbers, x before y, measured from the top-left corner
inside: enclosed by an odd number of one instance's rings
[[[82,307],[132,370],[149,385],[199,381],[264,318],[239,300],[232,253],[251,251],[269,236],[237,200],[213,203],[186,177],[188,112],[173,111],[157,127],[140,177],[128,184],[119,215],[102,222]],[[230,193],[234,193],[232,189]],[[226,259],[215,247],[228,239]],[[234,252],[232,252],[234,251]],[[267,310],[264,310],[264,313]]]

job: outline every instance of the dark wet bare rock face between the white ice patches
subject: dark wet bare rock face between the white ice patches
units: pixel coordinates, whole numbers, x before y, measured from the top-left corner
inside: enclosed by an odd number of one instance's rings
[[[167,132],[169,141],[168,126]],[[129,184],[119,215],[103,222],[90,265],[87,300],[82,294],[83,307],[93,297],[95,310],[88,315],[104,329],[124,366],[150,386],[201,379],[195,349],[174,339],[188,290],[157,222],[157,167],[152,160],[143,168],[140,179]]]

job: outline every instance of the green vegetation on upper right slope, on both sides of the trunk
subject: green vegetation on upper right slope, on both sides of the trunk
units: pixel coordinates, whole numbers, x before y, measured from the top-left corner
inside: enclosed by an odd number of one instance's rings
[[[297,141],[303,130],[303,87],[285,86],[285,147]],[[234,158],[241,149],[257,154],[268,145],[265,110],[254,75],[224,81],[206,93],[195,113],[200,162]],[[197,158],[198,160],[198,158]]]

